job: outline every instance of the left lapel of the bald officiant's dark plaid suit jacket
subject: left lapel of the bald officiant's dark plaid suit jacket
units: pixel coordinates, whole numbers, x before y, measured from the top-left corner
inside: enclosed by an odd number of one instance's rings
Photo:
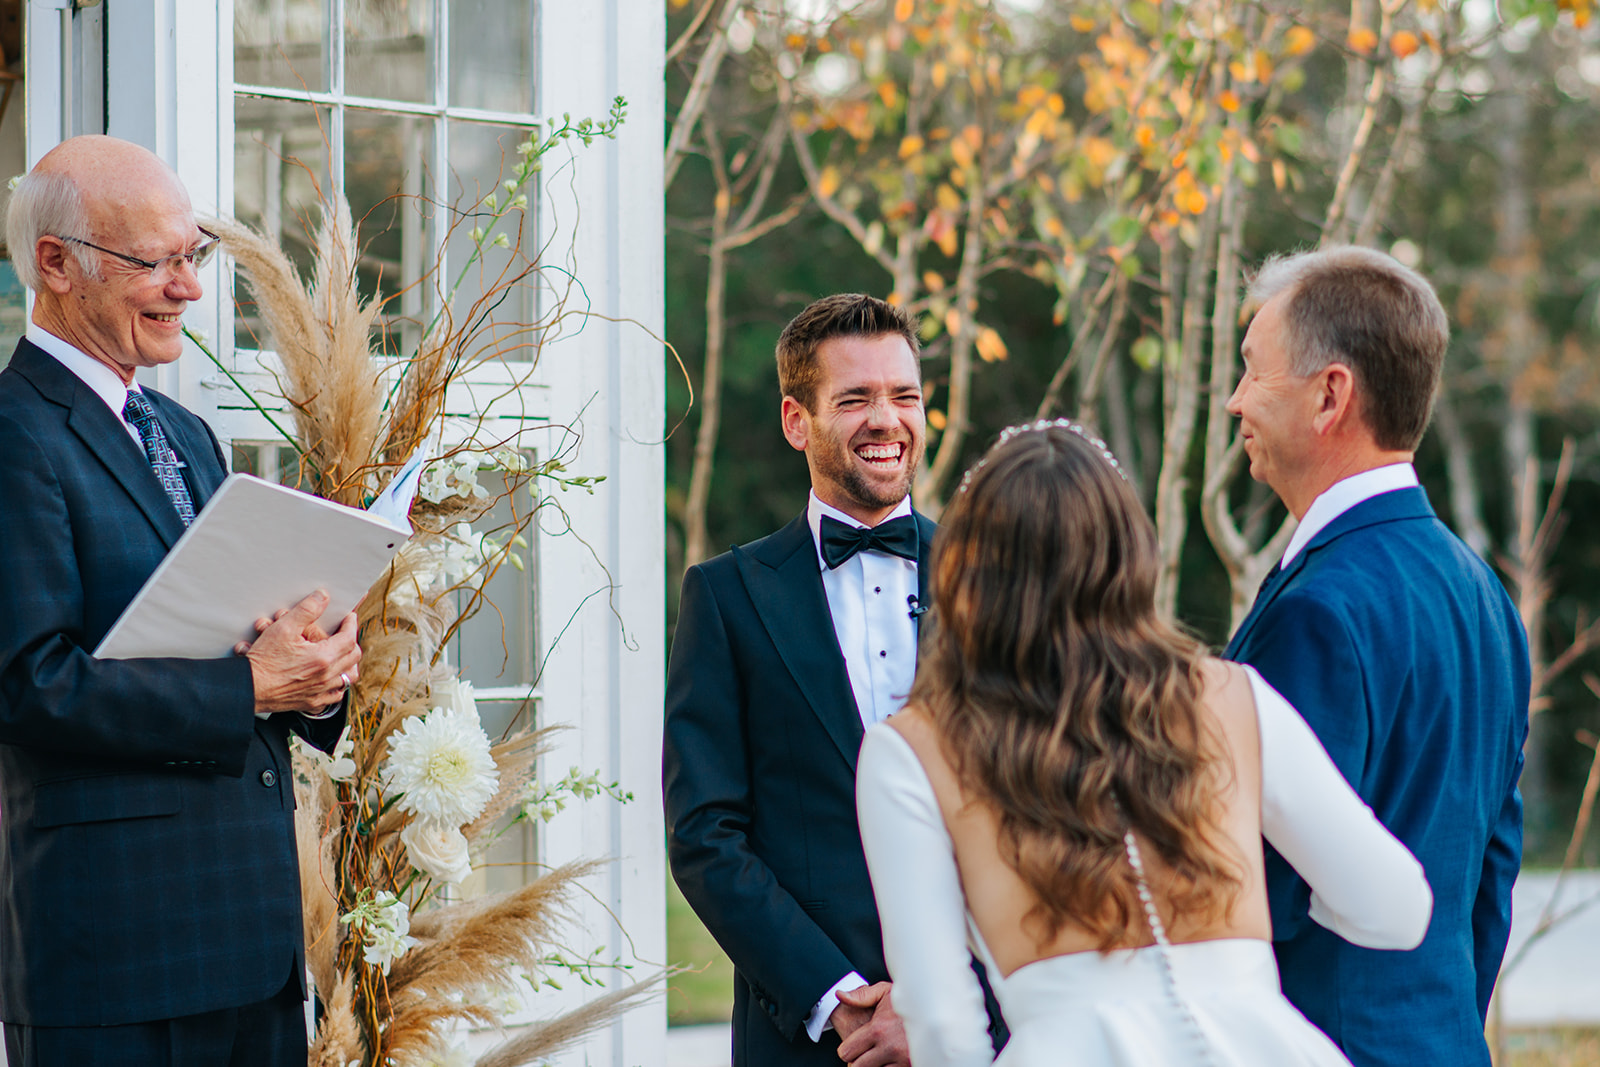
[[[184,520],[178,517],[178,509],[150,469],[150,461],[133,443],[133,437],[106,402],[53,355],[26,338],[18,344],[11,368],[32,382],[45,400],[66,408],[67,429],[133,498],[166,547],[178,544],[178,537],[184,533]]]

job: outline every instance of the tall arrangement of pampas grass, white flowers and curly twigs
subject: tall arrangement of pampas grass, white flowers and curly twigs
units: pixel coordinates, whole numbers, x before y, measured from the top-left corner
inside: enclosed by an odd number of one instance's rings
[[[482,424],[445,426],[443,411],[445,390],[488,360],[515,352],[531,373],[526,349],[536,357],[558,328],[563,293],[576,285],[565,272],[566,290],[547,301],[538,322],[496,320],[514,286],[544,282],[538,258],[523,253],[526,190],[552,149],[613,136],[624,107],[618,99],[602,122],[552,120],[522,142],[501,186],[450,213],[445,246],[466,227],[472,253],[453,282],[443,254],[424,278],[438,310],[406,357],[373,350],[381,302],[357,291],[357,243],[342,198],[323,206],[309,285],[274,242],[230,219],[206,221],[259,304],[291,429],[211,358],[293,445],[302,488],[362,507],[419,446],[446,445],[424,472],[410,515],[413,539],[358,608],[365,656],[346,736],[331,755],[296,750],[307,966],[322,1001],[312,1065],[466,1064],[466,1054],[448,1046],[453,1025],[498,1025],[522,1005],[518,993],[555,984],[550,971],[589,977],[594,966],[568,960],[555,942],[563,901],[592,864],[547,870],[520,889],[478,899],[459,899],[454,886],[507,825],[549,819],[568,800],[627,795],[576,768],[541,784],[544,731],[523,721],[523,709],[506,736],[486,736],[472,686],[445,648],[485,606],[498,568],[523,565],[517,550],[526,547],[538,507],[550,502],[547,490],[594,491],[598,478],[573,475],[563,456],[530,462],[515,438],[493,440]],[[496,248],[504,253],[494,262],[506,266],[491,269],[485,253]],[[462,286],[469,277],[470,299]],[[534,507],[478,530],[499,499],[480,485],[485,470],[504,477],[507,493],[531,490]],[[635,982],[518,1029],[477,1065],[515,1067],[549,1056],[656,987]]]

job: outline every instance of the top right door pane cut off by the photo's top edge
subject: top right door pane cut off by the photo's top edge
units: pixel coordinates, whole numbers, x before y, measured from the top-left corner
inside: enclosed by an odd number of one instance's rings
[[[450,5],[450,106],[533,110],[534,0]]]

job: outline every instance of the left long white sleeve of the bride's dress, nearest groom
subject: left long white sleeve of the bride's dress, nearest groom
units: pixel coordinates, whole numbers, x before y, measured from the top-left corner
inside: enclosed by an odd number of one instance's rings
[[[856,809],[910,1061],[917,1067],[994,1062],[955,849],[917,753],[893,726],[867,731],[856,765]]]

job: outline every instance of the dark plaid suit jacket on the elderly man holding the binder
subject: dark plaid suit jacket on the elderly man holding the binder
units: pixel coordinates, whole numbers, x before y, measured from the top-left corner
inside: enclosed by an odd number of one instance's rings
[[[205,504],[216,438],[146,395]],[[0,373],[5,1022],[168,1019],[304,971],[288,729],[330,745],[342,715],[258,720],[243,657],[90,654],[182,530],[110,408],[22,341]]]

